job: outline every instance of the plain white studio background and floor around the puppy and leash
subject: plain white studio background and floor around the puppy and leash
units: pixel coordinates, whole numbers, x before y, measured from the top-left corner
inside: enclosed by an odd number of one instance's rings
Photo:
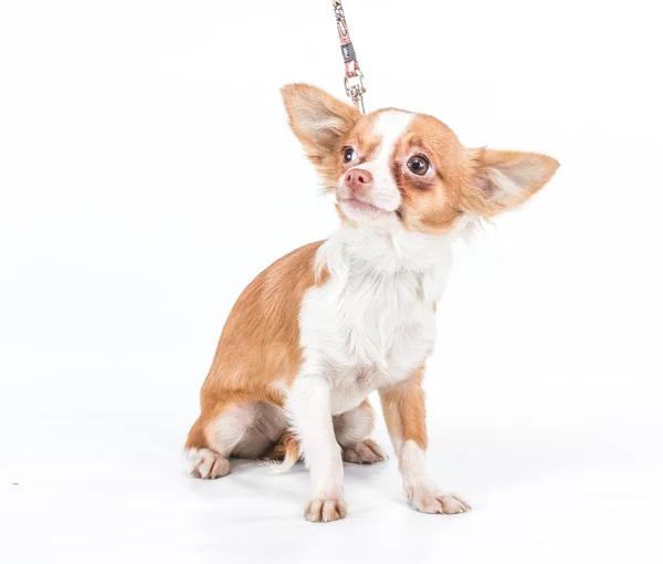
[[[2,0],[3,563],[661,562],[654,2],[345,3],[368,109],[561,163],[439,309],[430,466],[474,511],[411,511],[393,459],[327,525],[301,466],[181,470],[234,300],[337,223],[278,94],[344,96],[330,2]]]

